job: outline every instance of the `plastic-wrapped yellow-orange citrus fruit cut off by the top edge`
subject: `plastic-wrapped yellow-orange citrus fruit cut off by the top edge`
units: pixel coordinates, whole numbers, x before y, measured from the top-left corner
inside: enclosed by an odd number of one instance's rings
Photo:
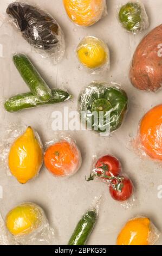
[[[105,0],[63,0],[67,15],[76,25],[88,27],[107,14]]]

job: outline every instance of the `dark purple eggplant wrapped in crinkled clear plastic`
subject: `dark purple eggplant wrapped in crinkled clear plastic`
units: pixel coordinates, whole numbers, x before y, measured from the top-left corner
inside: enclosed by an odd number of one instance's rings
[[[28,3],[9,4],[7,14],[31,46],[39,49],[42,57],[51,56],[58,63],[64,55],[64,35],[57,21],[39,7]]]

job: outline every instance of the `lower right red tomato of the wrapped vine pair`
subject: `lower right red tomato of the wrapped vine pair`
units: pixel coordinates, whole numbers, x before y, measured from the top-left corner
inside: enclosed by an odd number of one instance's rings
[[[109,185],[109,193],[117,201],[122,202],[127,200],[133,193],[132,181],[125,176],[117,177]]]

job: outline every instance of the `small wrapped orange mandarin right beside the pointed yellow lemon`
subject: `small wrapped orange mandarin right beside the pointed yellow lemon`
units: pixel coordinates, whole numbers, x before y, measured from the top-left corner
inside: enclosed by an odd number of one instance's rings
[[[81,153],[70,137],[60,136],[60,139],[48,142],[46,147],[44,164],[54,176],[71,176],[80,169]]]

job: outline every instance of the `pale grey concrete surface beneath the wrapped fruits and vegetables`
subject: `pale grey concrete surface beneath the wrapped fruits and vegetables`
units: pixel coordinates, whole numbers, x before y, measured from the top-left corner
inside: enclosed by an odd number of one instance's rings
[[[40,5],[53,15],[64,31],[66,53],[62,62],[57,66],[52,65],[49,60],[42,59],[34,50],[31,50],[21,34],[17,33],[9,23],[4,22],[7,19],[5,9],[11,1],[0,0],[0,2],[0,44],[3,45],[3,54],[0,57],[1,140],[5,135],[5,130],[12,123],[33,126],[43,142],[53,139],[55,134],[51,128],[52,112],[60,109],[63,111],[64,106],[75,110],[77,95],[92,80],[120,83],[126,90],[131,103],[124,125],[109,138],[99,137],[98,134],[90,131],[67,132],[76,139],[83,159],[79,172],[68,179],[57,179],[47,173],[43,167],[37,179],[26,185],[20,185],[1,167],[0,185],[3,187],[3,198],[0,199],[0,211],[3,217],[18,203],[35,202],[43,207],[51,226],[56,230],[54,243],[63,245],[68,242],[76,223],[88,209],[94,197],[102,193],[99,220],[90,236],[89,245],[114,245],[121,227],[129,218],[137,214],[150,217],[162,231],[162,199],[158,198],[158,186],[162,185],[161,167],[148,159],[140,159],[129,147],[130,139],[137,134],[140,118],[152,106],[161,103],[162,91],[157,94],[139,92],[128,80],[128,67],[135,47],[148,31],[161,23],[161,0],[143,1],[150,19],[150,27],[136,36],[126,33],[116,20],[116,8],[126,1],[107,1],[108,16],[92,27],[82,28],[75,26],[68,19],[61,0],[30,0],[31,3]],[[109,72],[92,76],[87,74],[85,69],[80,69],[75,56],[75,48],[80,39],[86,35],[97,36],[108,44],[111,51]],[[4,99],[28,90],[12,63],[12,54],[15,52],[27,53],[51,88],[67,88],[74,94],[73,102],[20,113],[5,112]],[[120,203],[115,202],[109,196],[107,185],[102,182],[87,183],[85,181],[85,175],[90,172],[92,155],[100,154],[100,152],[111,153],[119,157],[124,171],[133,180],[137,199],[132,209],[126,210]],[[162,245],[161,239],[158,244]]]

